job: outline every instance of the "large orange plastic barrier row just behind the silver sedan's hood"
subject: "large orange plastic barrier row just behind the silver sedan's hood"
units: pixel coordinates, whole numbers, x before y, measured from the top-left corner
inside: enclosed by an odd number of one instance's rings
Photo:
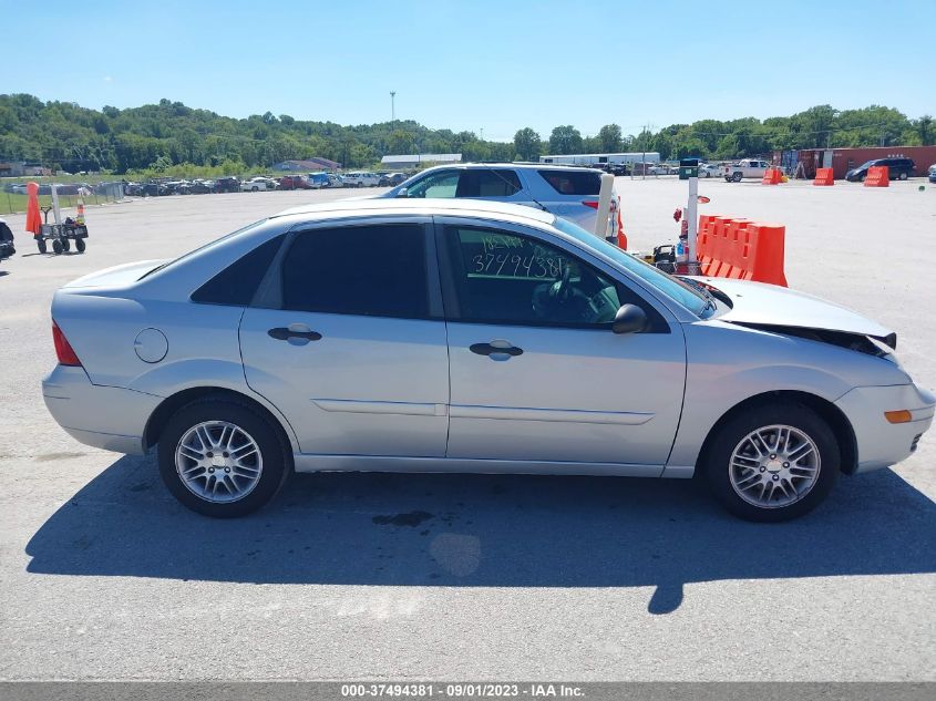
[[[739,217],[699,217],[697,257],[702,275],[786,287],[786,227]]]

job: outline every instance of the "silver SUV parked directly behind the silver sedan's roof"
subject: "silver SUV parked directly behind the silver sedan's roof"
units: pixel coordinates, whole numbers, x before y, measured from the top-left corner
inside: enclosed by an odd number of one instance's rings
[[[601,172],[596,168],[520,163],[461,163],[426,168],[381,198],[474,198],[545,209],[595,230]],[[620,198],[611,195],[605,236],[621,230]]]

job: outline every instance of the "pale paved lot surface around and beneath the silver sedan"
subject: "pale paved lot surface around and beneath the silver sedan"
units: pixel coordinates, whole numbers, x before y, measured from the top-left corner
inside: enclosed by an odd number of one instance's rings
[[[893,327],[936,388],[922,182],[702,182],[701,210],[786,224],[791,286]],[[676,235],[685,184],[617,187],[631,247]],[[83,256],[38,255],[7,217],[0,679],[936,680],[933,432],[785,525],[736,520],[689,482],[367,474],[300,476],[266,511],[214,522],[176,504],[152,457],[52,422],[39,383],[58,286],[349,194],[89,208]]]

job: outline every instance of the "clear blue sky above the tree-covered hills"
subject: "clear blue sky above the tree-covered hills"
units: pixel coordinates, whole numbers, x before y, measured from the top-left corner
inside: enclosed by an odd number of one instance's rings
[[[0,92],[99,109],[370,124],[394,90],[398,118],[500,140],[824,103],[936,114],[936,0],[0,0]]]

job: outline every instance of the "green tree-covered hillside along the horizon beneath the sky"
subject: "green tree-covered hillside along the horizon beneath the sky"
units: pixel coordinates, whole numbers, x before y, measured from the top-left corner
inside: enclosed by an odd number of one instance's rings
[[[513,142],[485,142],[473,132],[430,130],[412,121],[342,126],[267,112],[246,120],[161,100],[158,104],[89,110],[42,102],[28,94],[0,95],[0,159],[38,162],[65,171],[167,168],[177,164],[265,167],[320,156],[366,167],[387,154],[462,153],[472,161],[535,158],[541,153],[658,151],[664,158],[700,155],[732,158],[780,148],[916,145],[934,143],[933,120],[909,120],[892,107],[837,111],[811,107],[788,117],[702,120],[656,133],[623,135],[608,124],[583,137],[572,125],[547,140],[531,128]]]

